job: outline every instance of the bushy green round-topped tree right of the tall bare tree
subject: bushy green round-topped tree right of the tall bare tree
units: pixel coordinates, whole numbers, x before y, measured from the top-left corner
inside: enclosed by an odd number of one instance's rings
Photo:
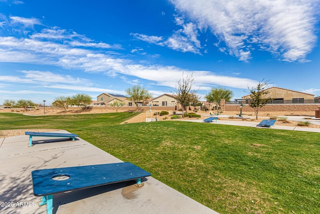
[[[205,99],[207,102],[216,104],[218,109],[220,109],[221,99],[230,101],[232,96],[233,92],[231,90],[221,87],[215,87],[211,88],[211,91],[207,95],[205,95]]]

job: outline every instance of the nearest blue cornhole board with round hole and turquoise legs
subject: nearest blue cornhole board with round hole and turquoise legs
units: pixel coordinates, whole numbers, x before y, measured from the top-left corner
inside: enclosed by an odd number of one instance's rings
[[[46,213],[51,214],[53,194],[96,187],[128,180],[137,180],[151,174],[129,162],[65,168],[39,169],[31,172],[33,194],[42,196],[39,206],[46,204]],[[59,179],[63,178],[63,179]]]

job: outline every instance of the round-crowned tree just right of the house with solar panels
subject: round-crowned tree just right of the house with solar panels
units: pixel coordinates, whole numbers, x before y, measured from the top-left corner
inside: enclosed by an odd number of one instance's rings
[[[125,89],[125,94],[128,97],[128,100],[134,102],[136,106],[135,112],[138,111],[141,103],[152,97],[151,93],[139,85],[134,85],[131,88]]]

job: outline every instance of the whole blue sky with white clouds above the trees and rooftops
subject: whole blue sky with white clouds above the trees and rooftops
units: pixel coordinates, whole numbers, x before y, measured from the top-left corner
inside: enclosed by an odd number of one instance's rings
[[[320,95],[314,0],[0,0],[0,104],[58,96],[153,97],[193,75],[202,96],[270,86]]]

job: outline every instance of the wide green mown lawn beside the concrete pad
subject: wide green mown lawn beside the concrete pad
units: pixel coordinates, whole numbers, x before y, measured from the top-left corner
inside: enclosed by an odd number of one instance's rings
[[[320,213],[320,134],[159,121],[133,113],[0,114],[0,130],[58,128],[220,213]]]

